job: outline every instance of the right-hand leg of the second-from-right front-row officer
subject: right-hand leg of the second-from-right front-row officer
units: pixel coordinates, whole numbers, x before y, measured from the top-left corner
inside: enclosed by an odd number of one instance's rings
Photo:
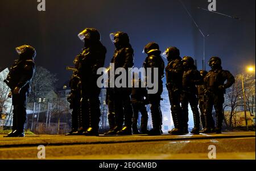
[[[196,94],[189,94],[189,104],[191,106],[191,110],[193,112],[193,120],[194,120],[194,128],[191,131],[192,134],[199,134],[200,130],[200,115],[198,109],[198,101],[196,98]]]

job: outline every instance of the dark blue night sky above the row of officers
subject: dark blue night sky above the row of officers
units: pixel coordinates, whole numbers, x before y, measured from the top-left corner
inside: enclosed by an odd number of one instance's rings
[[[236,20],[197,9],[208,8],[207,0],[183,0],[205,34],[205,57],[220,56],[223,68],[233,74],[246,65],[255,65],[255,1],[217,0],[217,11],[236,15]],[[69,79],[73,58],[83,46],[77,34],[86,27],[101,32],[108,49],[105,66],[112,58],[111,32],[130,36],[135,51],[135,66],[141,67],[143,47],[155,41],[164,51],[176,46],[181,56],[192,56],[202,68],[203,36],[178,0],[46,0],[46,11],[37,10],[36,0],[0,1],[0,68],[6,68],[18,56],[15,47],[30,44],[36,48],[36,65],[49,69],[59,78]],[[167,62],[167,61],[166,61]],[[207,69],[209,67],[207,66]]]

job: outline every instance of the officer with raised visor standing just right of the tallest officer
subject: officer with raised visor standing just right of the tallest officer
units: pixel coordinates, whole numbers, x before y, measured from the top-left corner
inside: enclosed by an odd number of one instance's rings
[[[110,39],[115,45],[114,56],[111,62],[114,68],[123,68],[126,70],[126,78],[128,78],[129,68],[133,68],[134,51],[130,45],[129,36],[125,32],[115,32],[110,34]],[[115,75],[117,78],[119,75]],[[115,128],[112,130],[112,135],[132,135],[131,119],[133,117],[133,107],[131,106],[131,88],[114,87],[114,110],[115,110]],[[124,120],[123,120],[124,119]],[[124,122],[124,127],[123,127]]]

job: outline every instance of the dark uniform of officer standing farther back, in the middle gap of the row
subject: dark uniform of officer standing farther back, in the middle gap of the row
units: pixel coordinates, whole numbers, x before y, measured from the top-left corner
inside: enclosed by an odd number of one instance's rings
[[[138,82],[141,85],[141,80]],[[148,105],[147,88],[133,87],[131,91],[131,103],[133,105],[133,134],[139,134],[137,126],[139,112],[141,112],[141,134],[147,134],[148,114],[145,106]]]

